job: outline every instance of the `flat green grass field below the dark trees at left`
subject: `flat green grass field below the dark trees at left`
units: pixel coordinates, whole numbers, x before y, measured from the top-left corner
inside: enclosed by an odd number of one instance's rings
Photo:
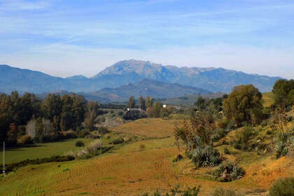
[[[26,159],[48,158],[52,155],[63,155],[68,151],[76,151],[76,141],[81,140],[85,145],[93,139],[67,139],[64,141],[36,144],[36,147],[8,148],[6,149],[6,164],[20,162]],[[3,154],[0,153],[2,160]]]

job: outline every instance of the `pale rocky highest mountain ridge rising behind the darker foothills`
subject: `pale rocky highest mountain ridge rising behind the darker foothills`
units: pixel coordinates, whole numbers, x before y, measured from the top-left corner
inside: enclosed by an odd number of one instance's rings
[[[137,82],[143,78],[159,80],[165,83],[179,83],[201,87],[212,92],[230,92],[236,85],[253,84],[262,92],[272,90],[272,86],[280,77],[260,76],[248,74],[242,71],[234,71],[223,68],[199,68],[162,66],[148,61],[124,60],[107,67],[92,78],[103,76],[132,76],[131,82]]]

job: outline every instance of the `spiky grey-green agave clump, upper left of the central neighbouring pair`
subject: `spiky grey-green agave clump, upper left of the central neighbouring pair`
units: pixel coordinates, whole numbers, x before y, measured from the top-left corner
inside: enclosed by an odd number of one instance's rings
[[[220,153],[211,146],[197,146],[191,153],[196,167],[213,167],[221,163]]]

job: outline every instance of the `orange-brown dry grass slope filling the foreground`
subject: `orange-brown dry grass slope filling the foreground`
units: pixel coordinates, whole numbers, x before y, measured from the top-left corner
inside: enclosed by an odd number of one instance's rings
[[[142,144],[144,151],[139,148]],[[276,160],[232,150],[228,159],[241,159],[246,176],[221,183],[203,176],[205,169],[193,169],[187,158],[173,163],[175,155],[172,138],[151,139],[91,160],[29,165],[1,180],[0,195],[143,195],[158,188],[167,191],[177,184],[182,188],[200,185],[201,195],[209,195],[220,186],[253,195],[268,190],[279,177],[294,175],[290,158]]]

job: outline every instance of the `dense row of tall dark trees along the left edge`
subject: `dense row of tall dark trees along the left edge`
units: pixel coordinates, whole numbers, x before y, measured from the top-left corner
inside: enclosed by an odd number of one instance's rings
[[[15,146],[71,137],[82,127],[93,130],[99,113],[97,102],[77,94],[48,94],[43,100],[31,93],[0,94],[0,138]]]

